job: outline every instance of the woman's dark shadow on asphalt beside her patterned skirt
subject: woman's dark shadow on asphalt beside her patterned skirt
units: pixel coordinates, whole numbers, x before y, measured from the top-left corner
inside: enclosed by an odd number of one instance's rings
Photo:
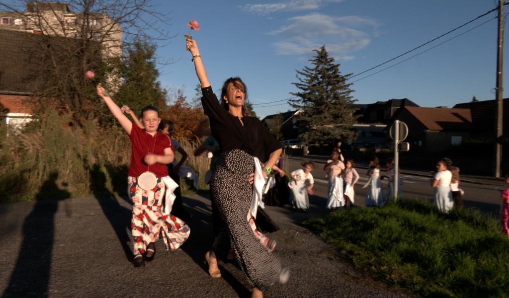
[[[212,232],[212,207],[210,202],[204,203],[189,196],[185,196],[185,199],[186,205],[191,209],[190,213],[192,214],[192,218],[188,225],[192,228],[191,235],[182,246],[182,250],[208,275],[209,267],[204,263],[204,256],[205,252],[211,248],[212,242],[214,241]],[[233,273],[229,272],[221,264],[219,264],[219,270],[221,271],[221,278],[230,284],[239,297],[250,296],[251,293],[249,290],[239,282]]]

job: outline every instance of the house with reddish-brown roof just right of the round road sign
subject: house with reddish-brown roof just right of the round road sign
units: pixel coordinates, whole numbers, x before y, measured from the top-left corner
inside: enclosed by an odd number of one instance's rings
[[[470,137],[473,124],[469,109],[425,108],[407,106],[399,109],[393,120],[408,126],[406,142],[426,153],[447,152]]]

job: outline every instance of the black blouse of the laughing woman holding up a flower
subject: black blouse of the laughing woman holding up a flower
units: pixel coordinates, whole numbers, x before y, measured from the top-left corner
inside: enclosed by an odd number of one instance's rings
[[[267,162],[272,152],[281,148],[263,123],[255,117],[239,118],[225,110],[212,92],[212,87],[202,88],[202,105],[209,116],[212,136],[219,143],[221,153],[240,149]]]

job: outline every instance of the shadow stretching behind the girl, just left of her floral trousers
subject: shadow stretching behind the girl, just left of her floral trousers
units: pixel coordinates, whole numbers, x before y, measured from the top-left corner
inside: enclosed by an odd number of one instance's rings
[[[95,164],[90,171],[92,193],[99,202],[104,216],[115,230],[128,260],[132,260],[131,241],[127,229],[130,229],[132,211],[122,206],[115,194],[106,187],[106,175],[101,167]],[[127,188],[127,187],[126,187]]]

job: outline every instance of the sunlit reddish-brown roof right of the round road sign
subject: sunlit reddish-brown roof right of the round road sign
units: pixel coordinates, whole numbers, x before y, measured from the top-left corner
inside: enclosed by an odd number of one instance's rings
[[[472,116],[469,109],[405,107],[429,130],[470,130]]]

